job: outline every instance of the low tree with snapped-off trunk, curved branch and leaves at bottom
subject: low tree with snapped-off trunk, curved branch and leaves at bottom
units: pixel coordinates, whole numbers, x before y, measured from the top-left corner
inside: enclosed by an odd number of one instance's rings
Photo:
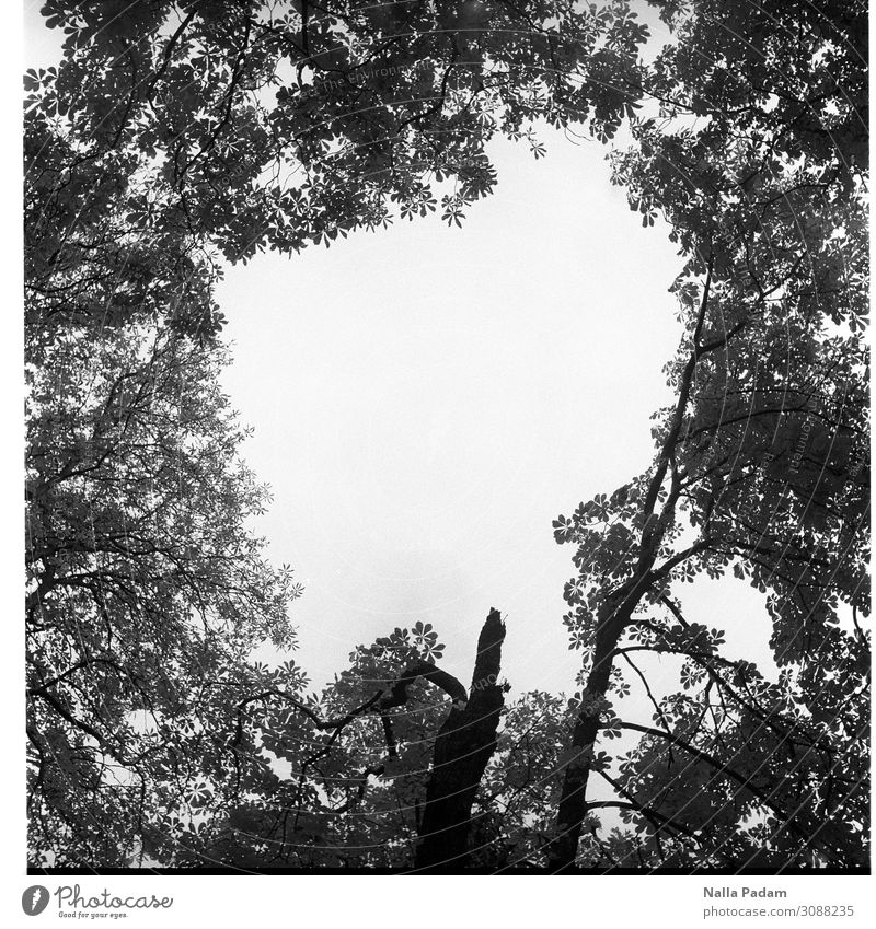
[[[235,757],[238,802],[214,813],[174,863],[466,867],[472,804],[504,704],[504,637],[492,609],[470,688],[436,664],[443,646],[418,623],[357,648],[320,699],[279,682],[241,692],[217,730]],[[287,776],[276,763],[288,764]]]

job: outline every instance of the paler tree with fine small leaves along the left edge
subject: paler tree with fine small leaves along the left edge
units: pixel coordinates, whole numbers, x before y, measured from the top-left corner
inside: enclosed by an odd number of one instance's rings
[[[222,360],[128,326],[59,340],[28,371],[35,864],[124,864],[208,796],[221,806],[220,684],[255,686],[252,650],[293,645],[300,589],[247,530],[267,493],[240,460]]]

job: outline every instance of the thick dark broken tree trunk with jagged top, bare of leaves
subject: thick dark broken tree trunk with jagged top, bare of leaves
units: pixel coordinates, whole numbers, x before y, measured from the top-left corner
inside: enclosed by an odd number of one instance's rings
[[[504,639],[505,624],[498,611],[491,609],[477,639],[468,699],[453,701],[435,740],[419,824],[415,859],[418,870],[466,867],[472,804],[496,748],[496,730],[505,702],[497,683]]]

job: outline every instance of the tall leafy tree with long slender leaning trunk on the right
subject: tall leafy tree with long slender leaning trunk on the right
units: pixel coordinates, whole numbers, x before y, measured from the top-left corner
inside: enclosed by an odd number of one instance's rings
[[[688,657],[685,689],[706,684],[699,701],[682,694],[655,704],[660,727],[638,728],[647,739],[626,765],[627,790],[630,775],[681,746],[706,778],[698,813],[710,831],[716,816],[734,829],[757,812],[763,859],[866,860],[858,759],[869,652],[857,627],[838,625],[841,604],[868,612],[855,108],[864,14],[850,12],[815,23],[807,13],[788,36],[770,4],[751,18],[707,2],[665,11],[678,42],[646,81],[664,125],[634,121],[637,144],[615,158],[615,181],[644,222],[664,212],[688,258],[675,286],[687,334],[668,368],[677,403],[657,417],[653,467],[554,523],[558,541],[578,545],[566,624],[590,665],[554,868],[575,862],[598,734],[615,725],[607,702],[614,662],[647,649]],[[837,68],[812,83],[820,58]],[[689,114],[710,118],[692,127]],[[679,606],[680,582],[728,569],[768,593],[771,643],[786,669],[777,688],[750,663],[722,660],[721,634],[689,623]],[[670,822],[690,821],[690,804],[679,817],[677,801],[666,802]]]

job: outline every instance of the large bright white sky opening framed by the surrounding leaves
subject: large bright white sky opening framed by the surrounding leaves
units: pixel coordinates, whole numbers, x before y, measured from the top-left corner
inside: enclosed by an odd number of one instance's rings
[[[416,619],[466,676],[491,606],[516,687],[574,681],[573,548],[551,520],[650,460],[679,262],[610,186],[601,147],[544,136],[540,163],[494,146],[498,189],[461,230],[405,221],[261,257],[219,291],[226,384],[275,495],[260,530],[306,583],[315,681]]]

